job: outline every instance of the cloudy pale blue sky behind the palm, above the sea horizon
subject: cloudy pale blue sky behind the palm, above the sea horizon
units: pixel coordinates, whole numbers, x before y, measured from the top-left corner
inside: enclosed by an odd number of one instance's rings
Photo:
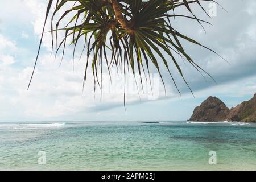
[[[228,107],[249,100],[256,92],[256,2],[254,0],[218,0],[219,6],[204,3],[213,16],[209,18],[193,6],[198,17],[208,20],[203,28],[195,21],[176,18],[172,26],[179,32],[213,49],[184,43],[189,55],[216,80],[205,79],[188,63],[180,60],[184,77],[195,98],[181,80],[174,65],[171,72],[181,90],[181,97],[168,72],[162,69],[164,88],[152,69],[154,96],[137,90],[126,94],[123,106],[122,77],[115,75],[112,91],[94,94],[92,71],[82,94],[85,55],[75,54],[72,69],[72,46],[68,46],[63,63],[61,55],[51,55],[51,35],[45,34],[38,65],[29,90],[48,1],[0,1],[0,122],[9,121],[163,121],[186,120],[193,109],[209,96],[220,98]],[[65,11],[65,7],[61,13]],[[184,9],[179,14],[189,15]],[[59,14],[60,15],[60,14]],[[47,22],[46,31],[50,30]],[[61,33],[60,33],[61,35]],[[82,43],[79,43],[81,50]],[[60,65],[60,67],[59,67]],[[105,74],[108,75],[108,74]],[[111,89],[107,76],[104,84]],[[119,84],[119,85],[118,85]],[[134,88],[131,86],[130,88]],[[133,90],[134,91],[134,90]]]

